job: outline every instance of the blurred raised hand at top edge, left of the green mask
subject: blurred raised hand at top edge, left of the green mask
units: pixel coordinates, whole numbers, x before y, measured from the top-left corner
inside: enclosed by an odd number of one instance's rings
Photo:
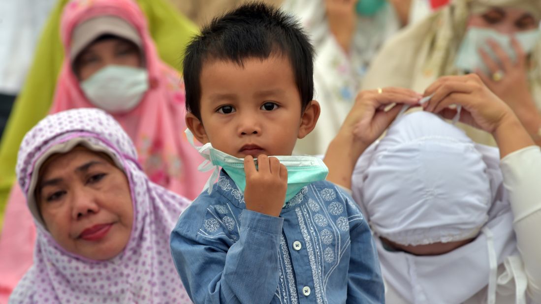
[[[353,34],[355,34],[354,5],[358,0],[325,0],[325,11],[329,29],[337,39],[340,47],[347,53],[351,47]]]

